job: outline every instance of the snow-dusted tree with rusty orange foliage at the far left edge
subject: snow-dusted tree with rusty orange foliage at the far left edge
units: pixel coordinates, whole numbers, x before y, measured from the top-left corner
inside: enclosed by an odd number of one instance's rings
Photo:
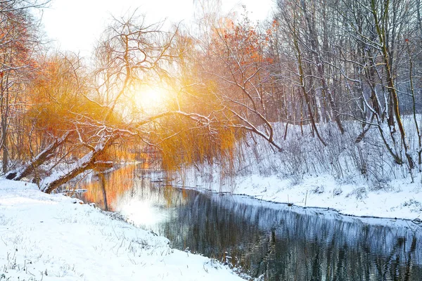
[[[42,6],[32,1],[1,1],[0,3],[0,115],[2,171],[6,173],[13,138],[11,119],[22,113],[25,85],[34,67],[32,55],[37,43],[37,26],[30,8]]]

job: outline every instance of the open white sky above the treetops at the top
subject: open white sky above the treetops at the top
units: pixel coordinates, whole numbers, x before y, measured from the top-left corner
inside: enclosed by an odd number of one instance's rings
[[[149,23],[168,19],[172,22],[192,18],[194,0],[53,0],[44,9],[42,22],[49,39],[60,50],[89,55],[111,15],[117,18],[139,8]],[[274,0],[222,0],[223,10],[241,11],[245,5],[252,20],[264,20]]]

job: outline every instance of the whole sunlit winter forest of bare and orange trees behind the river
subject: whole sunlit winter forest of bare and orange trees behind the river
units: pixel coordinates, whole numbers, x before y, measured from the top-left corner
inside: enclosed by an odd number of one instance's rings
[[[224,177],[262,155],[295,181],[420,176],[420,0],[277,0],[262,22],[195,3],[194,27],[114,15],[82,58],[49,47],[48,3],[0,1],[1,174],[50,193],[153,154]]]

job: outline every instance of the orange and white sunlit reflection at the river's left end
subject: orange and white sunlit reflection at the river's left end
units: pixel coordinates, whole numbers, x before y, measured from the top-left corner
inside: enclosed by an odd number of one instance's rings
[[[155,187],[151,174],[142,165],[127,165],[104,174],[105,182],[94,175],[79,188],[85,202],[95,202],[103,209],[120,212],[136,226],[160,231],[156,225],[171,221],[177,214],[175,207],[186,204],[186,196],[171,186]],[[139,176],[142,175],[142,176]]]

